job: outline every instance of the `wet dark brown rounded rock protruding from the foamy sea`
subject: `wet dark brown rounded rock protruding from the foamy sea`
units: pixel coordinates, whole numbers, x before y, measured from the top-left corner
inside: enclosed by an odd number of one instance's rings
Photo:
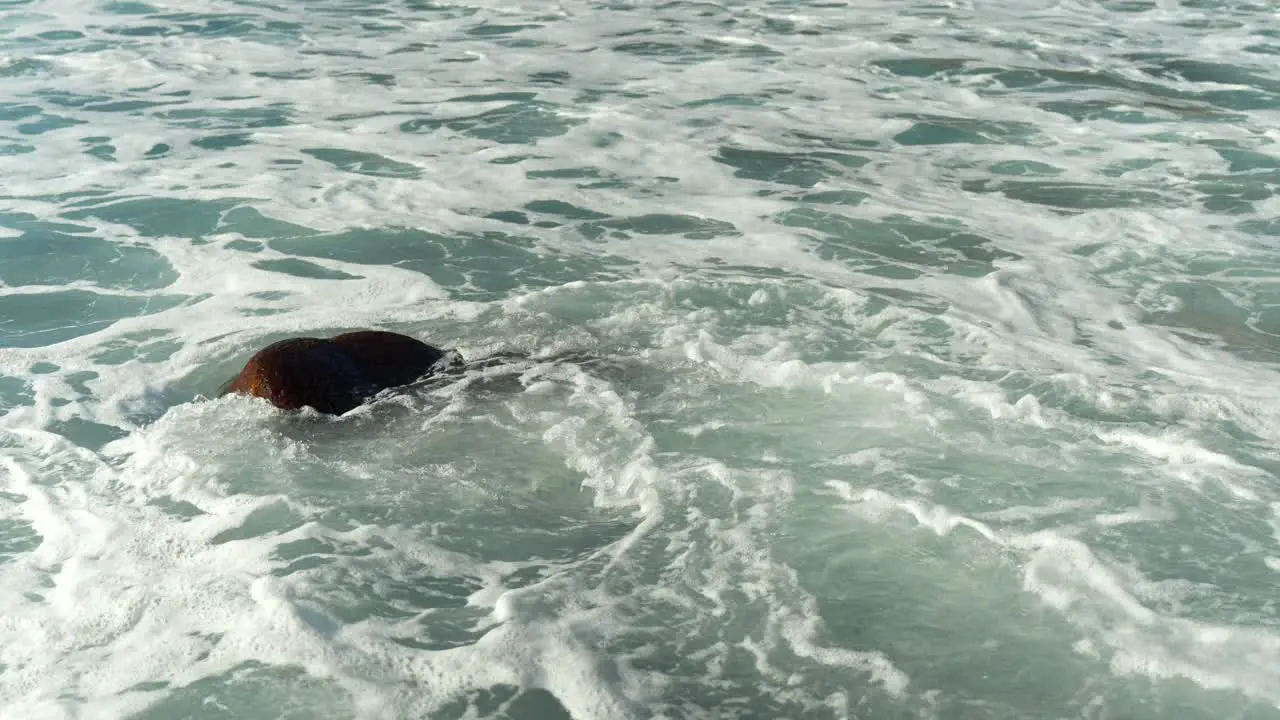
[[[284,410],[310,406],[342,415],[384,389],[433,374],[444,356],[439,347],[380,331],[296,337],[250,357],[224,393],[252,395]]]

